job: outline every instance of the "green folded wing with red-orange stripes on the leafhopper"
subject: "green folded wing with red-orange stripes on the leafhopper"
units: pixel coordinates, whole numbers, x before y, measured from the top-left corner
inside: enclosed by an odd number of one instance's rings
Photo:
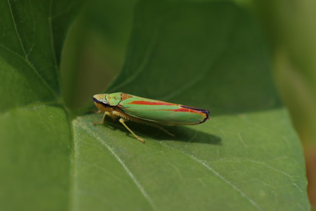
[[[137,96],[122,100],[118,106],[128,115],[158,124],[199,124],[209,115],[205,109]]]

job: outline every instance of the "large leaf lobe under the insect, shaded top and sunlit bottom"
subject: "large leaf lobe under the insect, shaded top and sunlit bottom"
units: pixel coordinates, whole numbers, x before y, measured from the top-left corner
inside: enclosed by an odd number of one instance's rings
[[[145,1],[135,14],[126,64],[105,92],[210,109],[212,120],[168,129],[176,138],[129,123],[146,139],[138,144],[110,120],[92,126],[101,115],[77,118],[78,208],[308,210],[300,143],[249,14],[232,3]]]

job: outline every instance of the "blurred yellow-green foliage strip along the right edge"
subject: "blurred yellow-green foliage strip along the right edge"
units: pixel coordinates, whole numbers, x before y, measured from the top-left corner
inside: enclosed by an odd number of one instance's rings
[[[271,47],[273,74],[306,159],[308,197],[316,208],[316,1],[253,2]]]

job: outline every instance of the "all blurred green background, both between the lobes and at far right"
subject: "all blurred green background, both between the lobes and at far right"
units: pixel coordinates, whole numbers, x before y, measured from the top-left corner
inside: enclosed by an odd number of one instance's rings
[[[271,74],[304,146],[308,196],[316,206],[316,3],[235,2],[258,21],[269,43]],[[65,85],[70,107],[82,107],[122,69],[135,3],[91,1],[74,21],[63,50],[67,63],[62,60],[61,66],[66,77],[68,71],[78,72],[74,84]]]

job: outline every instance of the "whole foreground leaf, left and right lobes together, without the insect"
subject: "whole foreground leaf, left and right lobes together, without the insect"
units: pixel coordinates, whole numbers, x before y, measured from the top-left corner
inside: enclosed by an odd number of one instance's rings
[[[247,12],[137,4],[124,68],[106,91],[212,117],[166,127],[175,137],[127,122],[141,144],[118,122],[93,126],[100,114],[69,118],[59,63],[77,5],[22,4],[0,5],[1,210],[309,210],[302,148]]]

